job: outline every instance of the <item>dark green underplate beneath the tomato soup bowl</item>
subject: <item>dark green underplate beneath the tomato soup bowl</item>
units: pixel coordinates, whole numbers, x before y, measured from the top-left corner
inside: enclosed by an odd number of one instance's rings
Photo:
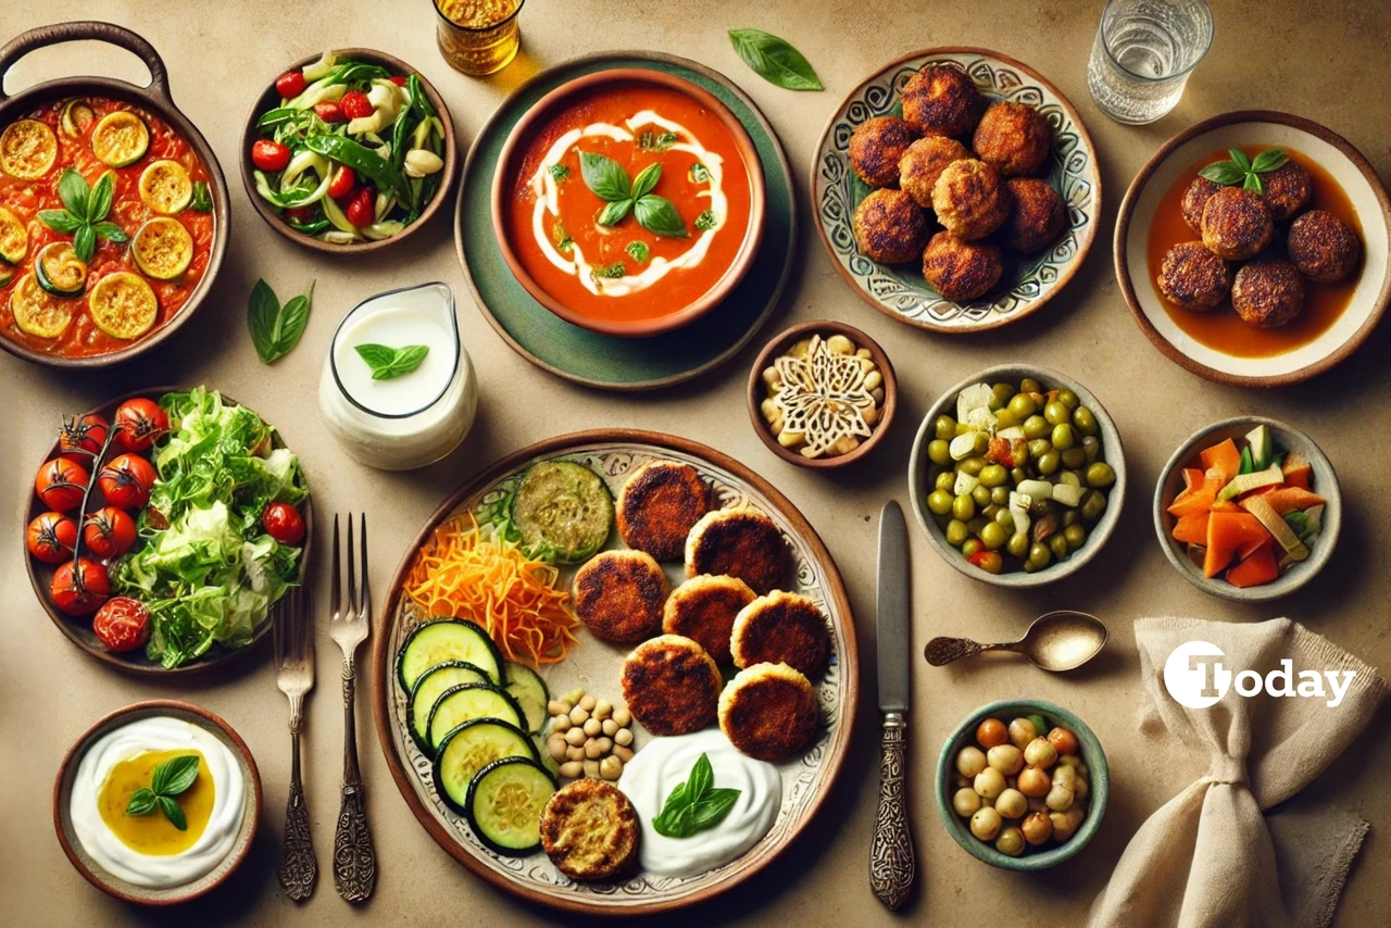
[[[754,141],[768,192],[764,239],[744,280],[723,303],[701,319],[652,338],[601,335],[555,316],[516,281],[492,234],[492,174],[512,127],[537,100],[562,83],[611,68],[675,74],[719,97]],[[772,313],[791,270],[796,234],[793,203],[791,173],[778,136],[753,100],[727,78],[675,56],[606,51],[542,71],[498,107],[465,163],[453,241],[479,309],[523,358],[558,377],[588,387],[655,390],[697,377],[733,358]]]

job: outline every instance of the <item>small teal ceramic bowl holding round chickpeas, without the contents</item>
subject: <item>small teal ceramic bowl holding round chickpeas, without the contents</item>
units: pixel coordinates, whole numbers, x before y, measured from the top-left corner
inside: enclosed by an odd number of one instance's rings
[[[1021,856],[1010,857],[996,850],[993,842],[983,842],[972,835],[971,819],[961,818],[951,808],[951,796],[957,790],[956,755],[963,747],[976,743],[975,729],[986,718],[993,717],[1008,725],[1013,719],[1031,714],[1042,715],[1050,725],[1061,725],[1077,735],[1082,762],[1086,765],[1091,792],[1085,800],[1086,817],[1078,826],[1077,833],[1061,843],[1050,842],[1045,850],[1029,847]],[[1110,796],[1110,785],[1106,753],[1102,750],[1102,743],[1096,740],[1096,735],[1086,726],[1086,722],[1067,710],[1042,700],[1000,700],[999,703],[982,705],[956,726],[942,746],[942,754],[938,755],[938,813],[942,815],[942,824],[956,843],[961,845],[972,857],[1002,870],[1047,870],[1077,856],[1086,847],[1086,842],[1092,840],[1092,836],[1102,828],[1102,818],[1106,815],[1106,800]]]

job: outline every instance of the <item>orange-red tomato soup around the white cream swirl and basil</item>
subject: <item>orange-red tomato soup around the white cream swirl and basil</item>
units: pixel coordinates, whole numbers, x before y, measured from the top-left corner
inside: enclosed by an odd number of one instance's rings
[[[672,147],[658,150],[664,128],[657,124],[629,127],[629,120],[644,111],[654,111],[662,120],[677,124],[684,132],[673,132]],[[609,124],[630,132],[633,139],[606,135],[586,135],[570,145],[559,159],[568,175],[555,182],[558,216],[542,216],[544,234],[556,245],[565,237],[573,239],[587,264],[594,269],[623,266],[623,278],[616,281],[591,280],[600,292],[591,292],[576,270],[563,270],[548,257],[534,232],[538,193],[533,185],[537,171],[545,167],[547,154],[562,135],[594,124]],[[645,139],[645,145],[643,143]],[[669,141],[669,139],[668,139]],[[698,263],[672,267],[650,284],[638,277],[651,271],[657,259],[676,262],[705,238],[696,225],[701,213],[711,209],[712,182],[697,170],[701,157],[686,146],[716,154],[721,159],[718,185],[723,192],[726,210],[716,225]],[[616,160],[629,179],[647,166],[662,166],[662,175],[652,193],[675,205],[686,225],[689,238],[668,238],[650,232],[638,224],[632,211],[619,223],[604,227],[597,223],[605,207],[597,193],[586,186],[580,171],[580,152],[594,152]],[[515,161],[515,164],[517,164]],[[701,166],[707,167],[708,166]],[[750,166],[740,156],[733,134],[721,120],[693,97],[676,89],[647,83],[616,83],[595,88],[588,96],[572,102],[544,121],[524,141],[524,156],[510,178],[506,205],[506,234],[517,259],[537,284],[569,309],[605,321],[637,321],[659,319],[676,313],[709,292],[733,266],[751,217]],[[629,250],[633,242],[648,249],[647,260],[636,260]],[[640,253],[640,249],[637,249]],[[687,260],[691,262],[694,255]],[[611,287],[604,292],[604,285]],[[625,289],[615,295],[615,289]]]

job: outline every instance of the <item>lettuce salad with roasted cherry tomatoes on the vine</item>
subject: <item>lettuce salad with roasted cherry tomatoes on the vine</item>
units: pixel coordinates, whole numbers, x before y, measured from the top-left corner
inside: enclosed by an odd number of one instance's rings
[[[274,431],[204,387],[67,419],[25,534],[56,566],[53,605],[164,668],[249,644],[298,583],[306,533],[309,487]]]

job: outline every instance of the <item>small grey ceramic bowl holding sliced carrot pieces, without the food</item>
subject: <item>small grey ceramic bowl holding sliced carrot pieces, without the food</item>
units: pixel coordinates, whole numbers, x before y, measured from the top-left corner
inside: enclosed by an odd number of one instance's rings
[[[1328,502],[1323,511],[1323,527],[1319,531],[1319,540],[1313,544],[1308,561],[1292,565],[1271,583],[1241,589],[1234,587],[1221,577],[1207,579],[1203,576],[1202,568],[1192,562],[1185,547],[1174,541],[1175,518],[1168,513],[1168,506],[1184,487],[1184,467],[1196,466],[1199,451],[1227,438],[1232,438],[1239,444],[1242,437],[1256,426],[1270,429],[1278,447],[1298,454],[1313,465],[1310,488]],[[1155,487],[1155,533],[1159,536],[1160,547],[1164,548],[1164,557],[1168,558],[1175,570],[1184,575],[1185,580],[1203,593],[1212,593],[1224,600],[1264,602],[1294,593],[1312,580],[1323,569],[1323,565],[1328,563],[1333,550],[1338,544],[1338,530],[1341,527],[1342,493],[1338,488],[1338,474],[1334,473],[1328,456],[1323,454],[1309,435],[1294,426],[1287,426],[1274,419],[1238,416],[1235,419],[1224,419],[1206,429],[1199,429],[1173,454],[1168,463],[1160,472],[1159,484]]]

